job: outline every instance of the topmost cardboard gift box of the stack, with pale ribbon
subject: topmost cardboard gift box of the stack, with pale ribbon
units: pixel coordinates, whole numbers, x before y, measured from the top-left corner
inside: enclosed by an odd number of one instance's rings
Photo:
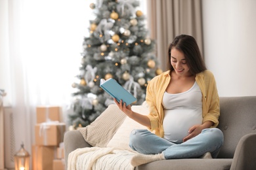
[[[62,122],[60,118],[60,107],[57,106],[37,106],[37,124],[49,121]]]

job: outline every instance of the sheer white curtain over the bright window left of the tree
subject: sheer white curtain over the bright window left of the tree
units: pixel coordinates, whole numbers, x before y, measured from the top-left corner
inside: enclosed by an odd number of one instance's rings
[[[31,152],[35,107],[70,104],[92,10],[85,0],[0,0],[0,89],[14,118],[16,148]]]

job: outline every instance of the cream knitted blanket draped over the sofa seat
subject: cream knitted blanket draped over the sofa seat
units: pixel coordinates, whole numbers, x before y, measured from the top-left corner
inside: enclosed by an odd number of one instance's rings
[[[84,169],[134,169],[131,158],[135,152],[117,148],[77,148],[68,155],[68,170]]]

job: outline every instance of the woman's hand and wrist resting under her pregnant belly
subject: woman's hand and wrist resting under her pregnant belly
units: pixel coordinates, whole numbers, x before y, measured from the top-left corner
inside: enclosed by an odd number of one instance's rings
[[[203,129],[209,128],[211,126],[213,126],[213,122],[205,121],[202,125],[195,125],[190,127],[190,129],[188,130],[188,135],[184,137],[183,142],[186,142],[189,139],[196,137],[202,132]]]

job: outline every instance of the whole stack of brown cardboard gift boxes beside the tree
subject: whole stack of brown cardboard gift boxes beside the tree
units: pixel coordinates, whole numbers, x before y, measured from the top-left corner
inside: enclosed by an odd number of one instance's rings
[[[63,138],[66,124],[60,107],[36,108],[35,144],[32,146],[33,170],[64,170]]]

